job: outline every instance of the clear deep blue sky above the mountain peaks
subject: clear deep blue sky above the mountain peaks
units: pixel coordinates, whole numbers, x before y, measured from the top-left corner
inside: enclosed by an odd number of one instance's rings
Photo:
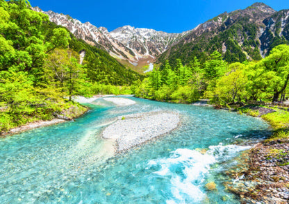
[[[108,31],[125,25],[181,33],[222,12],[244,9],[256,1],[242,0],[30,0],[31,6],[68,14]],[[274,10],[289,9],[288,0],[262,1]]]

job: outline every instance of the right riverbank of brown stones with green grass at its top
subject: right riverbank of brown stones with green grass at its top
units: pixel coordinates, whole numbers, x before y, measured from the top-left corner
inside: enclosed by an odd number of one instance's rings
[[[245,112],[265,119],[273,135],[245,152],[241,166],[226,172],[233,182],[225,184],[241,203],[288,203],[289,201],[289,112],[279,108],[246,106]]]

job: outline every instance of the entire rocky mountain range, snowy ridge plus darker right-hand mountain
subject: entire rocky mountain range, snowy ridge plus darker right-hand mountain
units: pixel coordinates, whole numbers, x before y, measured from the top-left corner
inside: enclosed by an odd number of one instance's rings
[[[34,10],[43,12],[40,8]],[[206,60],[215,50],[222,52],[228,62],[260,60],[274,46],[289,42],[289,10],[277,12],[264,3],[224,12],[183,33],[132,26],[108,32],[104,27],[97,28],[89,22],[83,24],[69,15],[44,13],[49,15],[51,22],[67,27],[77,38],[134,66],[154,61],[174,62],[177,58],[187,63],[195,56]]]

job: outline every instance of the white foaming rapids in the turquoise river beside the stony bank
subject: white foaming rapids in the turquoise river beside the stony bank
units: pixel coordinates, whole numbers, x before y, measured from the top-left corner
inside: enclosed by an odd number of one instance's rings
[[[233,158],[240,151],[245,151],[250,146],[226,145],[220,143],[217,146],[209,146],[205,154],[187,148],[179,148],[173,151],[169,158],[150,160],[148,169],[160,167],[155,171],[158,176],[170,178],[172,198],[166,203],[187,203],[204,200],[206,194],[202,192],[206,174],[210,166],[216,162],[222,162]],[[181,169],[180,171],[176,171]]]

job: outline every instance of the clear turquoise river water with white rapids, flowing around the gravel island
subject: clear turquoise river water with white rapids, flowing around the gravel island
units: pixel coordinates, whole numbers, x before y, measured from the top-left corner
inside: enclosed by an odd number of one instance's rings
[[[224,171],[249,148],[244,142],[269,133],[267,124],[235,112],[131,99],[137,104],[123,107],[98,99],[76,121],[1,138],[0,203],[239,203],[224,190]],[[101,129],[119,115],[151,110],[179,112],[181,126],[110,158],[112,142],[101,139]],[[212,181],[217,191],[208,192]]]

